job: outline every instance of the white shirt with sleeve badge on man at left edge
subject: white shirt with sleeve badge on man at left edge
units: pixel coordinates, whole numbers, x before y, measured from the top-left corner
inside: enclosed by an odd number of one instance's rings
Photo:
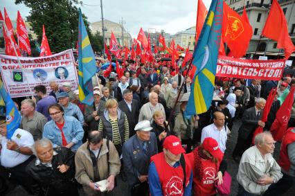
[[[32,134],[27,132],[26,130],[17,129],[11,137],[12,141],[15,141],[17,145],[20,147],[29,147],[31,148],[34,145],[34,139]],[[8,139],[6,137],[2,137],[2,149],[0,155],[1,166],[6,168],[13,168],[20,163],[24,163],[24,161],[28,160],[30,155],[21,154],[16,152],[15,150],[7,149]]]

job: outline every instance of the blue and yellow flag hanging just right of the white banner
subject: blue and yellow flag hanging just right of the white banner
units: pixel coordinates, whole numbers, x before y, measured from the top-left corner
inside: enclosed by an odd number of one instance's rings
[[[87,30],[84,26],[82,12],[80,9],[78,26],[78,51],[79,100],[81,103],[92,105],[93,85],[91,78],[96,74],[96,60],[89,41]]]

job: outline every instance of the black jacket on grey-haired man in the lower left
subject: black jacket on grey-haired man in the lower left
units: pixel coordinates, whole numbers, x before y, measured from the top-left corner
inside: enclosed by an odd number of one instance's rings
[[[28,175],[33,178],[34,195],[76,195],[78,190],[75,184],[75,154],[68,148],[53,148],[57,154],[53,155],[52,166],[35,165],[33,159],[26,168]],[[57,168],[65,164],[69,170],[62,173]]]

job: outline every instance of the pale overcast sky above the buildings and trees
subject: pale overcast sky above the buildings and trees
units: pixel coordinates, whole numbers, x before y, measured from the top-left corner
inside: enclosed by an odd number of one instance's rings
[[[24,5],[15,5],[14,0],[0,1],[1,12],[3,13],[5,6],[12,20],[17,17],[17,10],[21,12],[23,18],[29,15],[30,9]],[[209,8],[211,0],[203,1]],[[84,5],[81,10],[88,20],[100,21],[100,0],[82,2]],[[124,27],[132,37],[137,37],[141,27],[143,30],[150,29],[157,32],[165,30],[166,33],[175,34],[195,26],[196,21],[197,0],[102,0],[102,6],[105,19],[118,23],[123,17]]]

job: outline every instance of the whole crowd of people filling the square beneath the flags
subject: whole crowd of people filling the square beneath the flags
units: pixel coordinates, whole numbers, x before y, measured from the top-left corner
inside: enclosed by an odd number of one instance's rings
[[[71,83],[51,81],[51,92],[37,85],[37,96],[21,100],[21,125],[11,139],[6,139],[6,116],[0,116],[0,171],[6,174],[0,176],[0,193],[15,181],[32,195],[79,195],[79,189],[84,195],[114,195],[120,176],[129,195],[217,195],[216,187],[229,183],[224,153],[238,120],[242,125],[232,154],[240,163],[232,177],[238,195],[283,195],[294,186],[295,129],[285,134],[278,163],[268,130],[295,78],[217,78],[208,112],[188,116],[192,80],[184,70],[126,61],[120,63],[122,77],[115,71],[105,77],[104,63],[98,58],[92,105],[80,103]],[[277,86],[263,122],[267,95]],[[288,126],[294,123],[295,105]],[[258,126],[265,132],[252,145]],[[104,180],[106,187],[98,183]]]

